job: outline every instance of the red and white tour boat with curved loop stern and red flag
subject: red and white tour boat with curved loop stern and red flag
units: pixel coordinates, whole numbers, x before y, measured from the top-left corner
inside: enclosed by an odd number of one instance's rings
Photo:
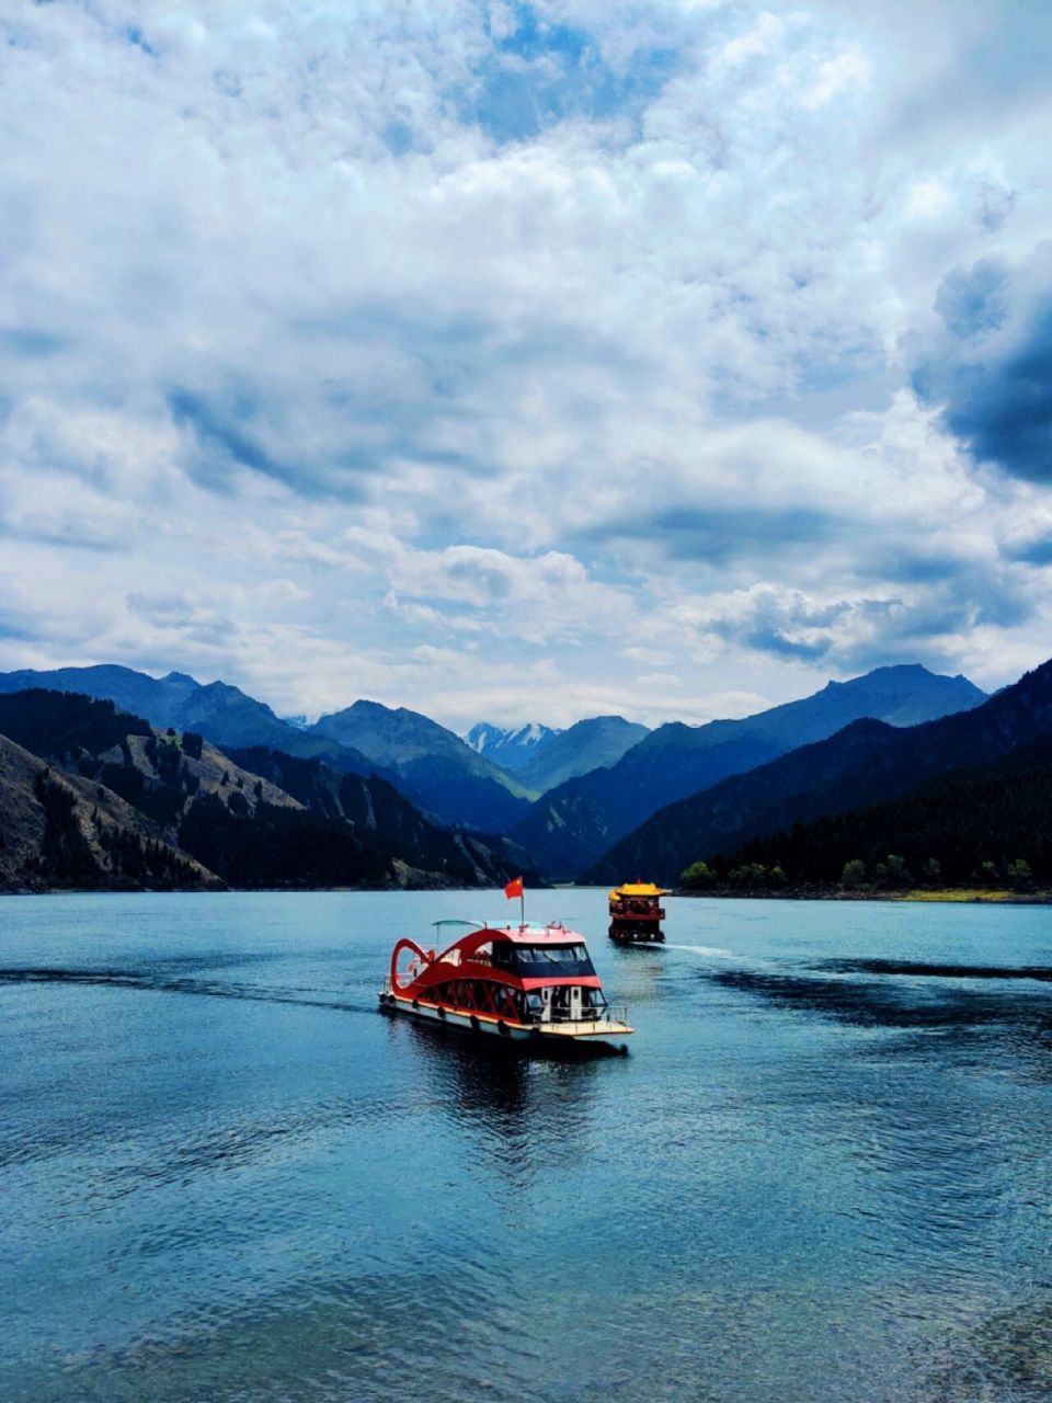
[[[442,954],[400,940],[380,991],[383,1013],[546,1047],[602,1042],[633,1031],[606,1002],[585,937],[575,930],[525,922],[435,925],[471,929]]]

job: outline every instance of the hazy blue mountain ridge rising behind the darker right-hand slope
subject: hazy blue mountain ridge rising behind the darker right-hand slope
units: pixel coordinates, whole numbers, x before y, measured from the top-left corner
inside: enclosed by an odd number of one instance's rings
[[[937,676],[919,665],[878,668],[741,721],[662,725],[610,769],[544,794],[511,835],[557,880],[571,878],[659,808],[729,774],[825,739],[863,717],[912,725],[971,709],[983,697],[966,678]],[[624,871],[614,874],[623,878]]]

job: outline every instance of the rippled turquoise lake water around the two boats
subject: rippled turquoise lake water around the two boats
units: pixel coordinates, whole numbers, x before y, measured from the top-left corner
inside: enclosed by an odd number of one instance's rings
[[[375,1012],[498,894],[0,904],[0,1397],[1052,1393],[1052,920],[543,892],[637,1027]]]

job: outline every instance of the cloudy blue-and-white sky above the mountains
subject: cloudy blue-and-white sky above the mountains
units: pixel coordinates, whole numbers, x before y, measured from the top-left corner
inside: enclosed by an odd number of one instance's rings
[[[6,0],[0,668],[456,730],[1052,654],[1052,7]]]

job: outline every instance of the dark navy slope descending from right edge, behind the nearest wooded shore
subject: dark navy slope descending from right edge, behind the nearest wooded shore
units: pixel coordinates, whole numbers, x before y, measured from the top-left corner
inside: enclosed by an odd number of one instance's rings
[[[992,763],[1049,730],[1052,662],[1045,662],[975,710],[906,730],[857,721],[670,804],[614,845],[582,880],[620,880],[638,870],[676,881],[697,859],[731,853],[798,822],[896,798],[965,765]]]

